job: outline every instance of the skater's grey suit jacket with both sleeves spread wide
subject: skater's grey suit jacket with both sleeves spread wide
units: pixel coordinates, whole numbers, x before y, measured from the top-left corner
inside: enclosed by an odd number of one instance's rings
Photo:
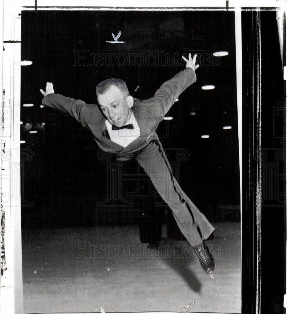
[[[132,111],[138,122],[141,135],[127,147],[122,147],[103,135],[106,118],[97,105],[88,105],[83,100],[75,100],[59,94],[46,95],[42,104],[73,116],[83,127],[93,133],[96,143],[102,150],[116,154],[117,160],[126,160],[127,155],[136,155],[154,137],[157,137],[155,130],[158,124],[163,120],[176,98],[195,81],[195,72],[191,68],[186,68],[163,83],[154,97],[147,100],[134,98]]]

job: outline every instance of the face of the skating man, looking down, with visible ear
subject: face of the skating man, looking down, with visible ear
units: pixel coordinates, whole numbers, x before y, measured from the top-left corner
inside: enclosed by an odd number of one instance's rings
[[[131,115],[133,97],[125,96],[115,85],[102,95],[98,95],[98,103],[107,120],[116,127],[122,127]]]

